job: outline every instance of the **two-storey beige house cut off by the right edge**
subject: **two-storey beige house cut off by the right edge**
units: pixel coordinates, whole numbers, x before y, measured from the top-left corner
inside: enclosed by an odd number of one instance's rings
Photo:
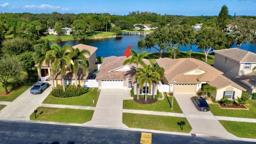
[[[214,67],[224,75],[238,82],[252,94],[256,92],[256,53],[232,48],[214,51]]]

